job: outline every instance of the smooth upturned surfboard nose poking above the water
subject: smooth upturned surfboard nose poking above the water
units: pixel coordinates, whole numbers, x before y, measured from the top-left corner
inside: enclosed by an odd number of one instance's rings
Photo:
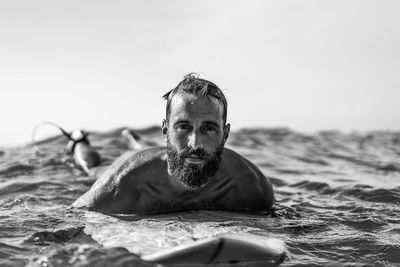
[[[226,234],[141,256],[164,266],[279,266],[284,242],[252,234]]]

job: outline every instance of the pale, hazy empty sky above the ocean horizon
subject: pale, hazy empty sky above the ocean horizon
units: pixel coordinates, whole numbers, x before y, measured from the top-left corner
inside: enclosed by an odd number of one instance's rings
[[[160,125],[189,72],[232,129],[400,130],[400,1],[2,0],[0,145]]]

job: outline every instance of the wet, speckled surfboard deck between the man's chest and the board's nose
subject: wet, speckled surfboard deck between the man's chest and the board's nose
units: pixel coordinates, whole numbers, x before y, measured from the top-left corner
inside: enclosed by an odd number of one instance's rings
[[[218,219],[213,216],[215,213],[187,212],[121,221],[103,214],[87,212],[85,233],[106,247],[124,244],[129,251],[144,255],[220,234],[260,230],[240,225],[240,220],[232,221],[229,214],[224,214],[224,220]],[[221,217],[221,214],[218,215]]]

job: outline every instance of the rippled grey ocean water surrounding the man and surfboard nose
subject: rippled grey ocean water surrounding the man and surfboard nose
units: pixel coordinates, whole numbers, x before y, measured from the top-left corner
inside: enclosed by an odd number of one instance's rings
[[[91,133],[104,165],[127,151],[121,129]],[[137,130],[163,145],[160,128]],[[312,135],[243,129],[227,146],[271,177],[270,213],[193,211],[130,221],[70,208],[94,180],[62,136],[0,149],[0,266],[152,266],[137,255],[221,233],[283,240],[281,266],[400,266],[400,132]]]

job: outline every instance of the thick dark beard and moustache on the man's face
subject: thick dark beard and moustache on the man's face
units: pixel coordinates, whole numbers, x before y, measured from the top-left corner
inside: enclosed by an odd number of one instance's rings
[[[218,171],[222,160],[224,145],[221,144],[215,153],[208,154],[203,149],[185,149],[178,151],[167,141],[168,172],[179,182],[191,190],[208,184]],[[188,156],[196,156],[204,160],[203,164],[193,164],[185,160]]]

